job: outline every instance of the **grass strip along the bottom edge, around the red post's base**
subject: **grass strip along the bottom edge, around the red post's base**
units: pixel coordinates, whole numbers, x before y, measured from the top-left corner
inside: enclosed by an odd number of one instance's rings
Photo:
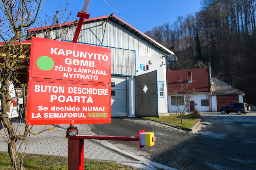
[[[113,162],[84,160],[85,170],[138,170],[133,166]],[[25,154],[23,166],[26,170],[68,170],[68,157]],[[0,151],[0,170],[12,170],[8,152]]]

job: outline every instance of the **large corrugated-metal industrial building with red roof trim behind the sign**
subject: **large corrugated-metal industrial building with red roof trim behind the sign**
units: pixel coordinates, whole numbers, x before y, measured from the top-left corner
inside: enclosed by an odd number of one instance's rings
[[[36,37],[55,39],[60,30],[34,28]],[[76,27],[58,41],[72,41]],[[173,52],[115,15],[85,19],[77,43],[111,48],[111,116],[168,113],[166,57]]]

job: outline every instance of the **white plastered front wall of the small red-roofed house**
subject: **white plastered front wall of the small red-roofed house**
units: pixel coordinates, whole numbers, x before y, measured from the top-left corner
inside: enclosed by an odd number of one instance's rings
[[[208,100],[209,101],[209,94],[211,94],[210,92],[206,92],[206,93],[196,93],[193,98],[191,99],[191,101],[194,101],[195,103],[195,109],[198,109],[199,112],[208,112],[210,111],[210,106],[202,106],[201,105],[201,100]],[[184,96],[185,94],[179,94],[179,96]],[[178,108],[176,105],[172,105],[171,103],[171,96],[174,96],[174,94],[169,94],[168,95],[168,112],[176,112],[178,111]],[[184,109],[184,106],[181,106],[180,109]]]

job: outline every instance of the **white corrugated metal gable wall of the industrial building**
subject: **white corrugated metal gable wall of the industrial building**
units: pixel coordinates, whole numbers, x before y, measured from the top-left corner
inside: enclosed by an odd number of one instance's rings
[[[72,41],[75,29],[76,27],[72,27],[67,36],[57,40]],[[56,37],[56,31],[52,31],[50,35],[51,38]],[[45,32],[37,35],[37,37],[45,37]],[[165,55],[164,51],[147,39],[143,39],[133,31],[128,30],[114,20],[112,21],[111,18],[107,21],[94,20],[85,22],[77,42],[110,47],[113,51],[112,61],[119,66],[121,65],[121,67],[126,65],[121,70],[120,68],[111,69],[112,74],[135,76],[135,55],[132,54],[133,51],[140,57],[161,58]],[[127,68],[127,65],[129,65],[129,68]]]

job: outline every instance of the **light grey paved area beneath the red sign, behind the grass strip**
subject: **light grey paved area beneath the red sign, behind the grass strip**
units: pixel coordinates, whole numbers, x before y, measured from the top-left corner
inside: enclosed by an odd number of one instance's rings
[[[23,132],[24,123],[20,125],[15,124],[17,131]],[[28,139],[21,144],[20,150],[25,150],[26,142],[28,143],[26,153],[43,154],[43,155],[56,155],[68,157],[68,139],[65,138],[66,129],[70,125],[59,125],[53,130],[40,133],[38,136],[30,134]],[[75,125],[79,129],[79,134],[96,135],[86,125]],[[52,125],[37,125],[32,127],[32,132],[38,133],[43,129],[52,128]],[[0,151],[7,152],[8,144],[6,142],[6,135],[4,129],[0,130]],[[17,149],[20,143],[17,142]],[[20,151],[19,151],[20,152]],[[145,170],[166,169],[174,170],[168,166],[164,166],[153,161],[149,161],[143,157],[139,157],[132,153],[125,152],[115,147],[113,144],[106,140],[84,140],[84,158],[97,159],[102,161],[113,161],[121,164],[128,164]]]

